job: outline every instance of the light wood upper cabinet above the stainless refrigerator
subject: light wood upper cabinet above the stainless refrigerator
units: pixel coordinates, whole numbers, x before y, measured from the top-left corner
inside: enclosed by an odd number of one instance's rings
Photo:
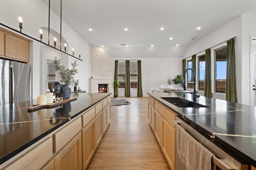
[[[29,64],[30,40],[0,27],[0,55]]]

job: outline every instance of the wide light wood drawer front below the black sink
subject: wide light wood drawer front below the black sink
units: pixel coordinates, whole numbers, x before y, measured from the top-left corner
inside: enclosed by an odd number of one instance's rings
[[[165,106],[163,106],[157,101],[155,101],[154,103],[155,109],[157,109],[157,111],[162,115],[162,117],[164,117],[164,119],[166,119],[166,121],[170,123],[170,125],[175,129],[173,121],[175,120],[175,115],[177,114],[172,112],[170,109],[167,109]]]

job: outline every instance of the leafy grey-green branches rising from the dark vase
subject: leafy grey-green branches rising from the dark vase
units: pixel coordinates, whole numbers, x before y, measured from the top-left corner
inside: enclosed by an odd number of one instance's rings
[[[76,66],[78,66],[78,64],[76,63],[76,61],[74,63],[71,63],[72,68],[69,69],[61,65],[60,63],[60,59],[54,57],[54,68],[59,73],[60,82],[70,85],[73,81],[74,75],[78,73],[78,70],[76,69]]]

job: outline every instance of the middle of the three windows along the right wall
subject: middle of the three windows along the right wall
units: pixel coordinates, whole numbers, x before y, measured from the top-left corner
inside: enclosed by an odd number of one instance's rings
[[[204,91],[205,55],[198,57],[198,90]]]

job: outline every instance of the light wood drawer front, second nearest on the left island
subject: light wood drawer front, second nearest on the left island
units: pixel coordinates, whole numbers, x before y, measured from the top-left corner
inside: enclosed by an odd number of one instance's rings
[[[76,135],[82,127],[82,119],[79,117],[72,123],[66,125],[58,132],[53,134],[53,152],[58,152],[66,143],[68,143],[74,135]]]

